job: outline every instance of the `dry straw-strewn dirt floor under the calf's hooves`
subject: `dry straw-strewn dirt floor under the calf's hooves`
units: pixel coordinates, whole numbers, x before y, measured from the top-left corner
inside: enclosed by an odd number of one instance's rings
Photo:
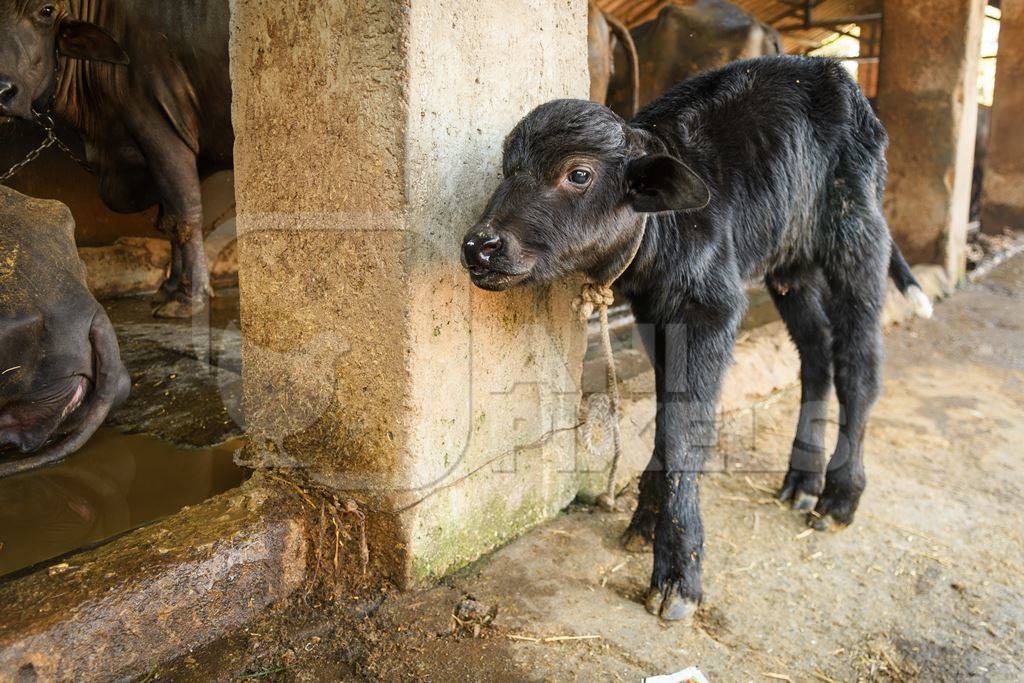
[[[647,614],[628,515],[570,510],[423,592],[296,604],[158,679],[1024,680],[1024,255],[887,337],[856,522],[776,504],[791,390],[737,416],[705,478],[706,602]],[[497,607],[453,635],[466,594]]]

